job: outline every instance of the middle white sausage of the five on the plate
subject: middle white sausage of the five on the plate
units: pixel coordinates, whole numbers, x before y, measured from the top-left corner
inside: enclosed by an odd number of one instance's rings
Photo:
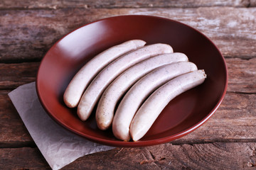
[[[156,67],[181,61],[188,61],[188,57],[183,53],[175,52],[157,55],[135,64],[119,75],[104,91],[97,105],[97,127],[101,130],[107,130],[107,128],[110,127],[114,118],[114,109],[119,99],[138,79],[142,78]]]

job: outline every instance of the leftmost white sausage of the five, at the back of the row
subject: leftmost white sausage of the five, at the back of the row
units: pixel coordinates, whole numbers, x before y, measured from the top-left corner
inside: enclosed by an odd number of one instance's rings
[[[93,57],[92,60],[87,62],[87,64],[75,74],[75,77],[73,77],[70,84],[68,84],[63,96],[65,104],[70,108],[78,106],[83,91],[85,91],[85,88],[100,70],[107,64],[110,64],[113,60],[117,59],[117,57],[132,50],[136,50],[139,47],[143,47],[145,44],[146,42],[143,40],[129,40],[120,45],[110,47],[99,55]]]

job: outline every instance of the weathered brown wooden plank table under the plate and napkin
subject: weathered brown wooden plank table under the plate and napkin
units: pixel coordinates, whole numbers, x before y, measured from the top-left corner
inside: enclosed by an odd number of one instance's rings
[[[50,169],[7,94],[36,80],[46,51],[71,30],[125,14],[171,18],[213,40],[228,65],[228,91],[201,128],[152,147],[116,148],[63,169],[256,169],[256,1],[0,2],[0,169]]]

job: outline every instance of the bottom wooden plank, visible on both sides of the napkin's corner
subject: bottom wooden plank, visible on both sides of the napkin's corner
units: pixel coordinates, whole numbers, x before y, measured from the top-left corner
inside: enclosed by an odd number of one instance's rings
[[[63,169],[255,169],[255,143],[116,148],[80,157]],[[50,169],[37,148],[0,149],[1,169]],[[110,161],[111,160],[111,161]]]

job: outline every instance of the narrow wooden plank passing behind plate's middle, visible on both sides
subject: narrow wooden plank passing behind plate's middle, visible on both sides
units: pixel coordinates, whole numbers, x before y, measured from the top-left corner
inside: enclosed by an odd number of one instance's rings
[[[256,93],[256,57],[250,60],[226,58],[228,67],[228,91]],[[15,89],[22,84],[36,81],[39,62],[0,64],[0,89]]]

